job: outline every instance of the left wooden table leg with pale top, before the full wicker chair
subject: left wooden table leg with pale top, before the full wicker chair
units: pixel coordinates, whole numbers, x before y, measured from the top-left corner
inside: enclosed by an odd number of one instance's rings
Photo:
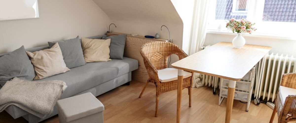
[[[177,123],[180,123],[182,89],[183,89],[183,70],[178,69]]]

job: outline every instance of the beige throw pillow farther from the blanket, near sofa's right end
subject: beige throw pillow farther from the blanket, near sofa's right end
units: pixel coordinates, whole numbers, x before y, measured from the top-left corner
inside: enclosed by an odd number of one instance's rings
[[[82,38],[82,50],[85,62],[106,62],[110,61],[111,39],[88,39]]]

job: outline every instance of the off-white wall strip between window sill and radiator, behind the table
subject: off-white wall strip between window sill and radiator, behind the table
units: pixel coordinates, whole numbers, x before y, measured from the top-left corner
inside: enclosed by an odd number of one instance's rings
[[[205,38],[205,45],[214,45],[218,42],[232,42],[235,35],[221,35],[207,33]],[[281,40],[272,38],[260,38],[260,37],[244,37],[246,44],[252,45],[264,45],[273,47],[269,53],[279,53],[284,55],[296,56],[296,41],[295,40]]]

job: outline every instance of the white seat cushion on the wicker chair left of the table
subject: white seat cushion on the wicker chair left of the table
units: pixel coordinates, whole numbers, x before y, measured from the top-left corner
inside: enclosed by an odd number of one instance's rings
[[[158,78],[160,82],[169,82],[178,79],[178,69],[176,68],[165,68],[162,70],[157,70]],[[192,73],[183,72],[183,78],[192,76]]]

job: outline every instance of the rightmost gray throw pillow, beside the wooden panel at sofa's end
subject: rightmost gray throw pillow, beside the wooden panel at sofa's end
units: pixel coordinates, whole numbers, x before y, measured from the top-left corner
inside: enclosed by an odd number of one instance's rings
[[[111,39],[109,46],[111,59],[123,59],[124,46],[126,45],[126,34],[103,37],[102,39]]]

